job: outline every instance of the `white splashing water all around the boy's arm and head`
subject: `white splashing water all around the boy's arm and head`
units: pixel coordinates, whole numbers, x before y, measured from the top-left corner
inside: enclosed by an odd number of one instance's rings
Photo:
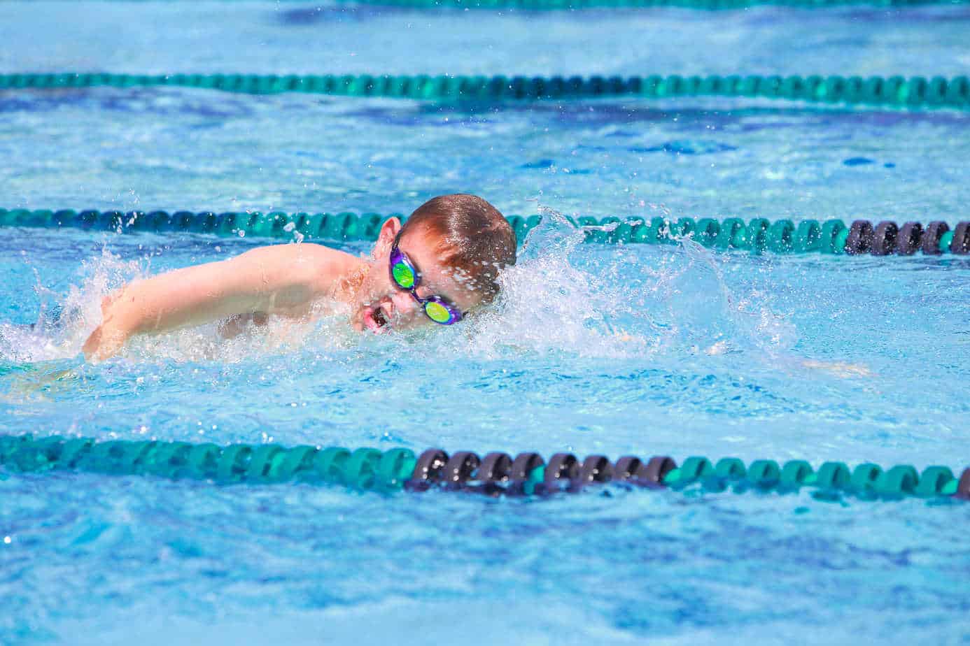
[[[313,321],[271,318],[232,339],[222,338],[215,323],[137,337],[120,358],[236,362],[297,351],[380,353],[394,347],[449,360],[549,353],[718,357],[751,348],[785,353],[795,342],[794,326],[771,310],[770,294],[730,284],[726,256],[690,238],[678,245],[585,244],[585,231],[554,209],[538,208],[542,221],[524,241],[517,263],[503,272],[498,301],[461,325],[378,340],[353,332],[345,312],[318,310]],[[101,323],[101,299],[149,273],[146,261],[124,261],[104,250],[84,262],[81,284],[60,302],[38,286],[44,303],[40,320],[33,326],[0,325],[0,359],[77,357]]]

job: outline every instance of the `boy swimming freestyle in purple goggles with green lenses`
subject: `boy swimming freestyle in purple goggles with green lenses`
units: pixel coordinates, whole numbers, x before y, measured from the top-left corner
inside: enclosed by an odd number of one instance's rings
[[[388,219],[371,258],[317,244],[273,245],[129,283],[102,301],[102,323],[83,352],[102,360],[137,334],[215,321],[232,336],[270,316],[306,320],[317,303],[325,312],[348,307],[358,331],[450,325],[495,297],[499,271],[515,263],[515,245],[492,204],[440,196],[404,225]]]

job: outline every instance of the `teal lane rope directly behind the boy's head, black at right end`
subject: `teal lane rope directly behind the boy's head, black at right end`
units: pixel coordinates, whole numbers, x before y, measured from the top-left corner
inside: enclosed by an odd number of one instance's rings
[[[400,213],[272,213],[211,211],[97,211],[65,209],[0,208],[0,227],[79,228],[93,231],[191,231],[224,236],[253,236],[293,239],[297,233],[309,240],[374,240],[381,223]],[[970,254],[970,222],[951,229],[946,222],[897,225],[884,221],[873,224],[856,220],[792,220],[755,218],[646,218],[632,216],[568,218],[581,227],[589,242],[607,244],[663,244],[689,237],[718,250],[746,250],[754,253],[819,253],[835,255],[910,256],[917,252],[935,256]],[[509,224],[522,242],[541,216],[509,216]]]

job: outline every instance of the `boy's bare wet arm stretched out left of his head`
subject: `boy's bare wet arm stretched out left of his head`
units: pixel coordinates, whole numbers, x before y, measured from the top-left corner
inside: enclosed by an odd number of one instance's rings
[[[275,245],[137,280],[102,301],[87,358],[106,359],[136,334],[167,332],[238,314],[292,313],[320,295],[329,250]]]

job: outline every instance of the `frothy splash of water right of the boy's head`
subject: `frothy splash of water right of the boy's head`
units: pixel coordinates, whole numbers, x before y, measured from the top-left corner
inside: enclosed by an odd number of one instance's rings
[[[473,318],[449,351],[647,358],[757,348],[779,356],[797,340],[769,292],[730,285],[725,264],[733,261],[693,239],[586,245],[584,230],[597,227],[576,228],[554,209],[539,209],[543,220],[504,272],[498,304]]]

